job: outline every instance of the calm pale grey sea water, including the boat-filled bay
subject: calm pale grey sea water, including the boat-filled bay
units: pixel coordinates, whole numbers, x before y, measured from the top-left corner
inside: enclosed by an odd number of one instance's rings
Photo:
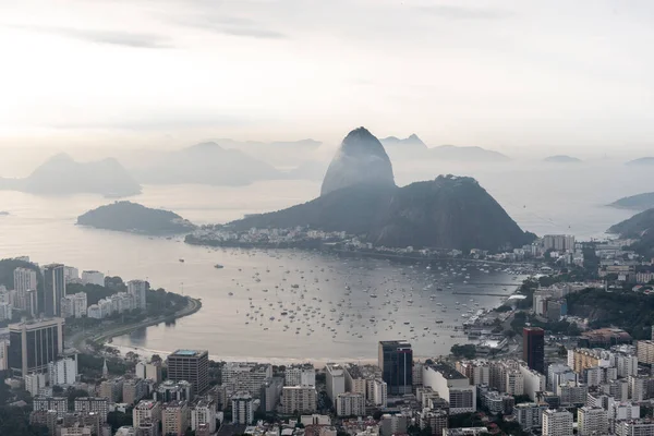
[[[632,215],[605,204],[654,189],[646,169],[619,162],[569,167],[400,162],[395,170],[400,184],[439,173],[473,175],[523,229],[582,239],[601,237],[610,225]],[[206,223],[287,207],[311,199],[318,191],[315,181],[243,187],[145,186],[132,201]],[[417,354],[437,355],[463,340],[447,326],[460,324],[468,311],[499,304],[502,298],[495,294],[507,295],[514,288],[509,286],[514,282],[512,274],[493,269],[451,270],[445,265],[428,270],[424,265],[293,251],[214,251],[179,239],[74,225],[76,216],[107,203],[94,195],[0,192],[0,210],[11,214],[0,217],[0,256],[29,255],[38,263],[61,262],[125,279],[146,278],[156,287],[203,300],[201,312],[173,326],[149,327],[114,340],[124,347],[161,352],[206,348],[222,359],[365,360],[376,355],[378,340],[412,338]],[[225,268],[215,269],[216,263]]]

